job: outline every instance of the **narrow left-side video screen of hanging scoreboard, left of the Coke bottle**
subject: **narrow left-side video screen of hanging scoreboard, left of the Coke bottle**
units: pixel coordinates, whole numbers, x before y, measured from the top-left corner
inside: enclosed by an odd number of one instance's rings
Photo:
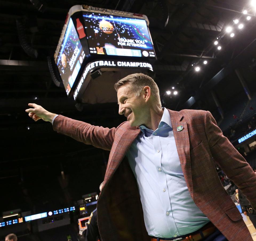
[[[67,95],[69,94],[77,74],[83,63],[85,53],[74,23],[70,18],[57,56],[57,66]]]

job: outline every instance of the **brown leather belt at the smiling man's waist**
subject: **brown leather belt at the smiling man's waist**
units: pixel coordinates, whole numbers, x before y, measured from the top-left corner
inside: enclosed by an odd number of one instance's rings
[[[157,239],[157,238],[151,238],[151,241],[200,241],[203,238],[206,238],[208,236],[210,236],[211,234],[213,234],[216,231],[216,227],[211,223],[207,223],[205,226],[203,226],[202,228],[200,228],[199,230],[191,233],[191,234],[187,234],[187,235],[182,235],[182,237],[178,237],[178,238],[171,238],[171,239]],[[202,236],[202,235],[203,236]]]

